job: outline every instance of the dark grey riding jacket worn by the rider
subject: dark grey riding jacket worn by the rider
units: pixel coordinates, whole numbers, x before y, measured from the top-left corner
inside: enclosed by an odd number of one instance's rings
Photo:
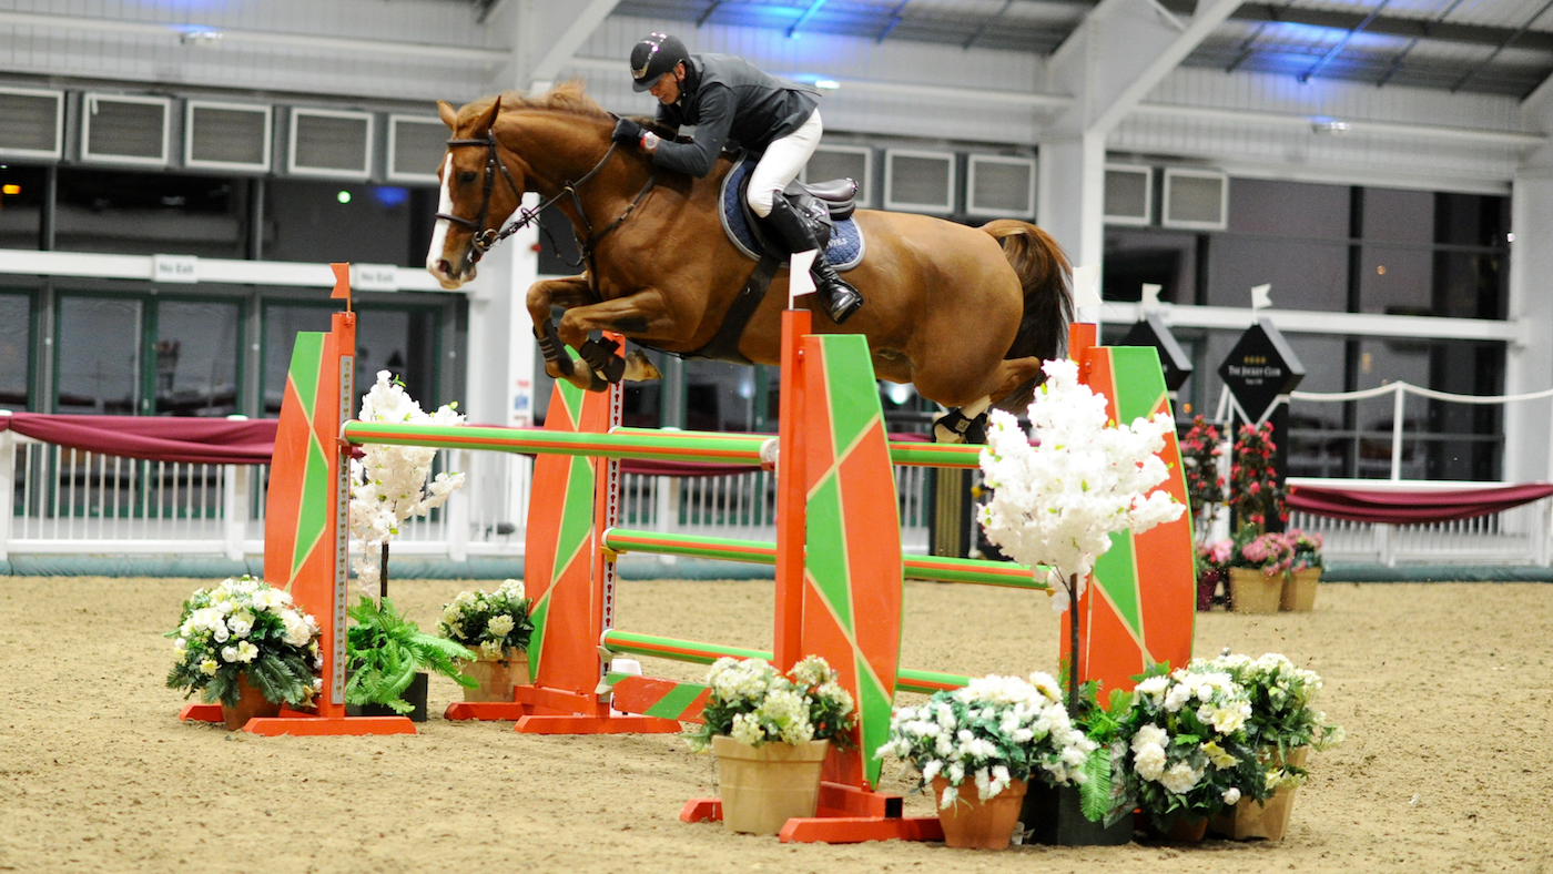
[[[797,130],[818,106],[820,92],[778,79],[733,54],[691,54],[680,82],[680,99],[658,104],[658,124],[677,130],[696,126],[696,140],[663,140],[652,163],[702,177],[717,163],[725,144],[764,152],[772,140]]]

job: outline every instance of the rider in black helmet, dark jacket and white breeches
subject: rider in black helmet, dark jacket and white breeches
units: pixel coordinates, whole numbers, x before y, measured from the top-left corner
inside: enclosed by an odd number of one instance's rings
[[[658,123],[696,126],[691,143],[674,143],[621,118],[615,140],[640,144],[652,163],[694,177],[711,172],[727,140],[764,152],[750,174],[745,202],[766,219],[792,251],[815,250],[814,273],[820,303],[840,324],[863,304],[862,295],[836,275],[809,225],[780,192],[820,144],[818,92],[763,73],[731,54],[691,54],[679,37],[652,33],[631,50],[634,88],[652,92],[662,104]]]

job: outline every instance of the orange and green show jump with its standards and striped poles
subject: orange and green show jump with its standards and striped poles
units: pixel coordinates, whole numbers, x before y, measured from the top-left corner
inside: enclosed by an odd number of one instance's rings
[[[874,750],[885,740],[895,694],[966,683],[955,674],[901,668],[902,581],[1041,590],[1045,582],[1031,568],[1008,562],[902,556],[893,466],[977,467],[978,449],[890,442],[862,337],[812,335],[806,310],[783,314],[776,540],[755,542],[618,528],[620,460],[671,458],[755,469],[770,464],[769,438],[620,428],[618,385],[584,393],[565,382],[556,383],[544,430],[353,422],[351,387],[340,377],[351,373],[340,366],[354,351],[349,318],[337,315],[332,334],[298,337],[281,432],[301,428],[307,439],[289,438],[300,449],[289,447],[287,458],[295,460],[284,464],[276,442],[266,542],[266,576],[273,585],[289,587],[318,618],[325,646],[332,647],[326,700],[343,688],[331,685],[331,671],[339,674],[343,664],[343,641],[335,635],[345,627],[346,585],[348,487],[340,458],[349,446],[398,442],[536,453],[525,543],[525,587],[534,599],[528,650],[533,683],[514,689],[511,702],[453,703],[447,719],[514,720],[517,731],[544,734],[672,733],[682,722],[699,720],[705,688],[609,672],[613,655],[691,663],[725,655],[767,658],[780,669],[820,655],[857,703],[857,744],[853,750],[831,750],[818,815],[790,820],[781,840],[941,838],[936,818],[902,817],[899,796],[874,790],[882,764]],[[1154,349],[1095,346],[1093,326],[1075,326],[1070,343],[1086,382],[1107,396],[1118,418],[1146,414],[1165,402]],[[303,352],[312,348],[329,354]],[[317,379],[311,388],[294,391],[292,382],[304,382],[298,368],[309,363],[317,366]],[[301,424],[287,425],[287,418]],[[1173,463],[1168,487],[1185,498],[1173,438],[1163,455]],[[1078,602],[1079,669],[1107,688],[1131,688],[1129,677],[1145,666],[1190,658],[1191,531],[1182,519],[1138,539],[1129,532],[1114,537],[1118,542],[1096,567],[1095,585]],[[617,559],[631,551],[775,565],[773,650],[617,629]],[[306,719],[332,723],[334,713],[326,703],[317,717]],[[307,723],[298,722],[304,717],[289,719],[275,728],[307,731]],[[342,716],[337,722],[343,728],[359,720]],[[682,810],[686,821],[719,817],[716,799],[691,799]]]

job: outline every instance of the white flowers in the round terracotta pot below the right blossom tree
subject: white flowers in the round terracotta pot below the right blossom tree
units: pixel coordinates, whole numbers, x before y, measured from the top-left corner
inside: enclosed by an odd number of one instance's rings
[[[983,801],[1033,775],[1051,786],[1082,784],[1093,751],[1068,720],[1056,682],[1039,672],[1028,682],[980,677],[921,706],[896,708],[890,742],[879,748],[916,768],[924,787],[943,778],[941,809],[955,803],[966,779]]]

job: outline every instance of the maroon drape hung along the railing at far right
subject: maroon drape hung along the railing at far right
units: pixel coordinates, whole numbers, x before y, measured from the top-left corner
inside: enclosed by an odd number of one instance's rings
[[[1289,509],[1331,519],[1418,525],[1488,515],[1548,495],[1553,495],[1550,483],[1407,492],[1294,486],[1289,489],[1287,503]]]

